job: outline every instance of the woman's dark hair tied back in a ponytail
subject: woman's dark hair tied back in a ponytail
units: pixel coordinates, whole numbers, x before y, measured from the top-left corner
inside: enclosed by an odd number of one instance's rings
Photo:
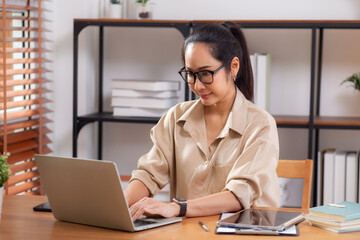
[[[182,60],[185,64],[185,50],[189,43],[204,43],[210,48],[211,55],[225,64],[225,69],[230,71],[231,60],[238,57],[240,69],[236,76],[235,84],[244,94],[246,99],[253,101],[253,73],[251,68],[249,50],[241,28],[233,22],[209,23],[197,29],[185,39],[182,48]]]

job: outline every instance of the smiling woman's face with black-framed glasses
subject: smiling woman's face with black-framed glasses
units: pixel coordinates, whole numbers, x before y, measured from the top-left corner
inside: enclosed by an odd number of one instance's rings
[[[206,44],[190,43],[185,50],[186,70],[192,72],[200,70],[214,71],[222,64],[222,62],[219,62],[210,54],[210,49]],[[190,89],[200,97],[201,102],[205,106],[216,106],[226,101],[231,101],[232,104],[235,98],[233,78],[236,76],[237,70],[235,74],[233,74],[233,63],[231,66],[232,70],[230,73],[227,73],[224,67],[216,72],[214,74],[214,81],[211,84],[202,83],[198,76],[196,76],[194,84],[189,84]]]

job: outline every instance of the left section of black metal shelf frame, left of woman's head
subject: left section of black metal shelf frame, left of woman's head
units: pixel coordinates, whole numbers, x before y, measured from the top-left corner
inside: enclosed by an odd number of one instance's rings
[[[99,28],[99,107],[98,113],[78,116],[78,49],[79,35],[82,30],[89,26]],[[74,19],[74,52],[73,52],[73,144],[72,155],[77,157],[77,140],[80,130],[89,123],[98,123],[98,159],[102,159],[103,145],[103,122],[135,122],[155,124],[159,118],[144,120],[142,118],[111,118],[108,113],[103,112],[103,69],[104,69],[104,27],[153,27],[153,28],[173,28],[178,30],[184,38],[189,36],[191,23],[189,21],[161,21],[161,20],[123,20],[123,19]],[[189,87],[185,86],[185,99],[189,99]]]

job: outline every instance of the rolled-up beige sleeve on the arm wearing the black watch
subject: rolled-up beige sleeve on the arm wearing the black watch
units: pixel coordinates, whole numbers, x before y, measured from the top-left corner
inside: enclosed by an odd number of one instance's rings
[[[248,125],[241,138],[242,153],[228,174],[224,190],[235,194],[244,208],[278,206],[279,143],[275,121],[265,115]]]

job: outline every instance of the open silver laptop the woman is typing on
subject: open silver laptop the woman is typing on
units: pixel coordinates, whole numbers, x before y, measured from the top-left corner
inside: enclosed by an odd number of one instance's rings
[[[54,217],[97,227],[141,231],[182,218],[132,221],[114,162],[35,155]]]

